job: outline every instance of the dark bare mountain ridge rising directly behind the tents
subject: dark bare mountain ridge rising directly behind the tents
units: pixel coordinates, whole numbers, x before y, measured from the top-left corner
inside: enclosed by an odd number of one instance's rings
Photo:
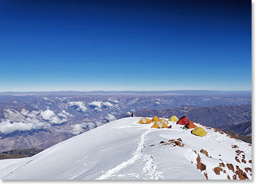
[[[214,128],[234,130],[243,135],[250,135],[252,132],[251,105],[182,106],[158,110],[141,110],[135,113],[135,116],[159,116],[162,118],[170,118],[172,115],[178,118],[186,115],[191,121]],[[243,123],[246,124],[243,125]]]

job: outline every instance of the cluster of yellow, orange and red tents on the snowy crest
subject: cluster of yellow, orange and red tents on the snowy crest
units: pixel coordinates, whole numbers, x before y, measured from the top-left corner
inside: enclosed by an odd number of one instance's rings
[[[180,119],[178,119],[176,116],[171,116],[169,118],[169,121],[172,122],[177,122],[177,125],[184,125],[184,129],[192,129],[194,128],[194,130],[192,130],[192,134],[197,135],[197,136],[205,136],[206,135],[206,131],[199,127],[194,125],[194,122],[189,120],[189,118],[187,118],[187,116],[182,116]],[[171,128],[171,125],[168,126],[168,121],[165,119],[159,119],[157,116],[154,116],[152,118],[152,120],[148,119],[148,118],[142,118],[140,119],[140,121],[138,121],[138,123],[140,124],[148,124],[148,123],[153,123],[153,125],[151,126],[151,128]]]

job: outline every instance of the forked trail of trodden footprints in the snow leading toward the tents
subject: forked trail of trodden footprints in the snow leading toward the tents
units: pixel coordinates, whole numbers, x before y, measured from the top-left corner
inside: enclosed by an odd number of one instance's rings
[[[114,175],[114,173],[122,170],[123,168],[126,168],[126,166],[128,165],[132,165],[133,163],[135,163],[136,160],[140,158],[143,158],[143,160],[146,161],[146,164],[143,168],[143,172],[146,175],[150,176],[149,179],[159,180],[160,173],[157,172],[157,166],[154,165],[155,160],[153,160],[153,156],[143,152],[145,148],[146,136],[150,132],[152,132],[152,130],[145,131],[145,133],[142,134],[142,136],[140,137],[140,142],[138,143],[138,146],[135,150],[135,153],[133,153],[133,157],[131,157],[129,160],[124,161],[123,163],[120,163],[120,165],[117,165],[114,168],[111,168],[110,170],[106,171],[104,175],[99,176],[98,178],[96,178],[96,180],[107,180],[109,177]]]

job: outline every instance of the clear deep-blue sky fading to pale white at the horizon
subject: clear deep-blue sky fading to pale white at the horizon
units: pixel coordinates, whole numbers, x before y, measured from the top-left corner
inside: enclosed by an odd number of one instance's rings
[[[0,1],[0,91],[251,90],[252,2]]]

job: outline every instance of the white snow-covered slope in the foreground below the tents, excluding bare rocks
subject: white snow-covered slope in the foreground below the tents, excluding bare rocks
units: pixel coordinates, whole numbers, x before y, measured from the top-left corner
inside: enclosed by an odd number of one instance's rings
[[[138,117],[123,118],[99,126],[54,145],[30,158],[0,160],[0,178],[3,180],[226,180],[246,173],[252,178],[252,146],[230,138],[214,129],[206,128],[202,137],[191,130],[170,122],[172,129],[150,128],[138,124]],[[199,125],[201,126],[201,125]],[[181,138],[183,147],[168,140]],[[165,143],[160,143],[165,141]],[[165,145],[164,145],[165,144]],[[237,145],[237,148],[231,148]],[[208,156],[200,150],[208,151]],[[236,153],[241,150],[244,153]],[[239,151],[238,151],[239,152]],[[244,156],[243,156],[244,155]],[[201,171],[199,162],[206,165]],[[238,156],[238,161],[235,160]],[[242,162],[242,157],[246,163]],[[224,163],[217,175],[213,168]],[[242,171],[235,174],[227,163]],[[224,171],[225,170],[225,171]]]

